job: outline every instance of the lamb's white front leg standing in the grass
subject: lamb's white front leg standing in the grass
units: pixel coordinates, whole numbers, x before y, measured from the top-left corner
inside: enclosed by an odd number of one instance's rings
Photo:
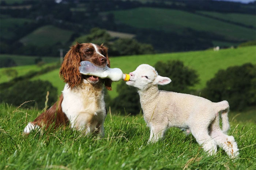
[[[151,125],[150,126],[150,137],[147,143],[155,143],[165,135],[165,126]]]

